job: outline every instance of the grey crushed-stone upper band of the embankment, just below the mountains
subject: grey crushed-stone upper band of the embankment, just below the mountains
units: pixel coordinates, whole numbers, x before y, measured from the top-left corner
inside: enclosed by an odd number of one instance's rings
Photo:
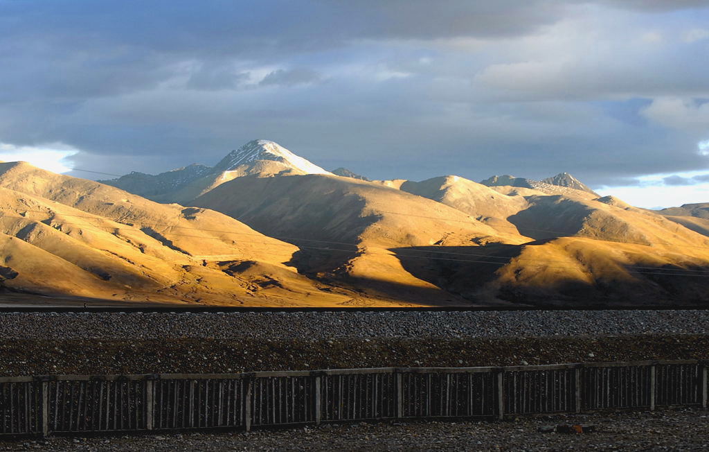
[[[709,310],[3,313],[0,338],[486,338],[708,334]]]

